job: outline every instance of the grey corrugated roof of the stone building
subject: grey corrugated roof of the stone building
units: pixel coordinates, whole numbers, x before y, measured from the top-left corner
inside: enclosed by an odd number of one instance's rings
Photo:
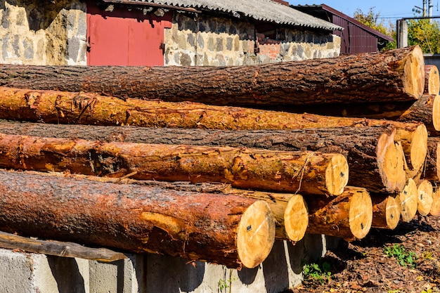
[[[110,0],[114,3],[123,3],[123,0]],[[106,2],[110,2],[106,1]],[[342,30],[342,27],[315,18],[309,14],[302,13],[296,9],[276,3],[271,0],[135,0],[167,6],[178,6],[184,8],[206,9],[209,11],[220,11],[235,17],[241,15],[254,20],[264,22],[275,22],[280,25],[294,25],[311,27],[323,30]],[[131,3],[135,1],[130,1]]]

